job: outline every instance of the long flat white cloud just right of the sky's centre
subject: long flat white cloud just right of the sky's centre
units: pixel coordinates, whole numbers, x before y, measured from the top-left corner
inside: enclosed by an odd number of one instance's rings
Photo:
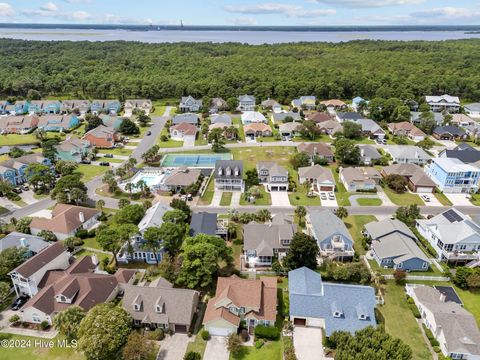
[[[335,10],[323,9],[305,9],[302,6],[281,4],[281,3],[263,3],[256,5],[227,5],[223,8],[225,11],[235,14],[246,15],[271,15],[280,14],[287,17],[311,18],[326,15],[333,15]]]

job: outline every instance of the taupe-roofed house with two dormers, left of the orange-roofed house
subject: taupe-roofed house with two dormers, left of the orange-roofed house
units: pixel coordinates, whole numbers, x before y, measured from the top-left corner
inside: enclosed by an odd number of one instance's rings
[[[159,280],[150,282],[148,286],[124,285],[123,308],[136,327],[189,332],[198,309],[199,292],[174,288],[167,280]]]

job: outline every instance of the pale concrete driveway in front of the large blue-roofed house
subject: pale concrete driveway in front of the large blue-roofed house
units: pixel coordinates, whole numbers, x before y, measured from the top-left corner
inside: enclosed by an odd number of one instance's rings
[[[322,330],[319,328],[295,327],[293,345],[298,360],[321,360],[325,358],[322,345]]]

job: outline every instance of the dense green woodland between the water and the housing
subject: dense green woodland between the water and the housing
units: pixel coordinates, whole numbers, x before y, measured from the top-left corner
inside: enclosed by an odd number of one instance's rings
[[[242,45],[0,40],[0,96],[480,100],[480,40]]]

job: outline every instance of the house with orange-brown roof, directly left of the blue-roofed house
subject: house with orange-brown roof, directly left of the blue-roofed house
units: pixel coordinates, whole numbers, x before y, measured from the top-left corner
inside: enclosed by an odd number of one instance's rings
[[[215,297],[210,299],[203,326],[210,335],[236,334],[245,321],[249,333],[257,325],[274,326],[277,316],[277,280],[261,276],[258,280],[236,275],[219,277]]]

